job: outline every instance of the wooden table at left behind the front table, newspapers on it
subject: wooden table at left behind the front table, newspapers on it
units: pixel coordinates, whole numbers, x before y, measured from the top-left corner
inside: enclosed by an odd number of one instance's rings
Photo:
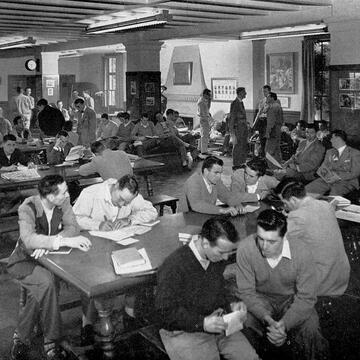
[[[149,196],[153,195],[150,175],[164,166],[163,163],[147,159],[139,159],[134,162],[134,174],[143,176],[146,181],[147,192]],[[99,177],[99,174],[92,174],[89,176],[81,176],[79,174],[79,165],[71,167],[57,167],[51,166],[47,170],[38,170],[39,175],[43,178],[46,175],[59,174],[65,178],[66,181],[74,181],[80,179],[89,179]],[[0,192],[24,190],[34,188],[37,186],[41,178],[25,180],[25,181],[9,181],[0,178]]]

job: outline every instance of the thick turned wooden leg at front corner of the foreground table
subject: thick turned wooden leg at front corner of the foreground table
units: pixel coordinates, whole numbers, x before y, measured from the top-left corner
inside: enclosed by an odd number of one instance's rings
[[[99,314],[100,326],[98,328],[99,342],[105,359],[115,358],[114,326],[111,322],[113,299],[95,299],[95,307]]]

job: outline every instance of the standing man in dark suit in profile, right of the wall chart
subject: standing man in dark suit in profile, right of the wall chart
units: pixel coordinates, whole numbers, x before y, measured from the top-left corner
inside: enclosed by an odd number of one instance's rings
[[[243,99],[246,97],[244,87],[236,89],[236,99],[230,105],[229,130],[233,139],[233,168],[245,164],[248,155],[248,125]]]

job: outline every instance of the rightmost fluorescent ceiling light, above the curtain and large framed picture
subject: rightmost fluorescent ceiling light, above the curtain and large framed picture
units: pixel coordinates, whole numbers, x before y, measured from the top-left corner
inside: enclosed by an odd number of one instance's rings
[[[277,37],[293,37],[293,36],[305,36],[327,33],[327,26],[321,24],[306,24],[287,26],[282,28],[244,31],[240,33],[240,40],[261,40]]]

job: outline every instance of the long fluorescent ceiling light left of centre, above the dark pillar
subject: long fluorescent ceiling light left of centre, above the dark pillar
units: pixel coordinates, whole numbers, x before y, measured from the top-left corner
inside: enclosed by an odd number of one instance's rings
[[[89,25],[86,28],[86,32],[88,34],[105,34],[109,32],[123,31],[129,29],[137,29],[147,26],[155,26],[166,24],[169,20],[171,20],[171,15],[169,12],[164,10],[160,13],[144,16],[144,17],[134,17],[131,19],[121,21],[120,19],[116,20],[116,22],[102,24],[102,25]]]

